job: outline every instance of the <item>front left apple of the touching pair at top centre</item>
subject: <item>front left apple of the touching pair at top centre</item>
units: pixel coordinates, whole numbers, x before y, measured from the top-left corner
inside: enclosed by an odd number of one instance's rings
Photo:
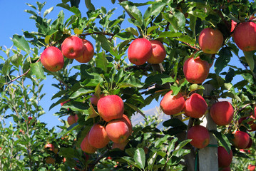
[[[140,66],[148,61],[152,51],[150,41],[145,38],[136,38],[128,48],[128,59],[130,63]]]

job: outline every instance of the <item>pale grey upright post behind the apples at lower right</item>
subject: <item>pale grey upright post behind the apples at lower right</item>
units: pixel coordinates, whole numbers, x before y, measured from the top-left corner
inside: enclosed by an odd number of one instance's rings
[[[213,90],[213,86],[210,84],[204,85],[205,91],[204,95],[209,96],[211,91]],[[215,103],[214,100],[210,101],[209,105]],[[208,130],[217,130],[217,125],[213,122],[213,119],[210,117],[210,107],[208,107],[208,112],[203,119],[203,123],[201,125],[208,128]],[[213,134],[210,133],[210,145],[217,145],[217,140]],[[198,152],[199,155],[199,171],[217,171],[218,163],[217,163],[217,147],[205,147],[200,149]]]

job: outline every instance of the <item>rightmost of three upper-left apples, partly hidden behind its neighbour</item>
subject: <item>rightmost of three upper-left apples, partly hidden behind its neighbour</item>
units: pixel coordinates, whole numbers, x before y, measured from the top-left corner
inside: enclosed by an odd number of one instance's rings
[[[76,61],[80,63],[88,63],[88,61],[91,61],[91,59],[94,56],[94,48],[93,44],[90,41],[87,41],[86,39],[82,39],[83,45],[85,46],[85,49],[83,51],[83,55],[76,58]]]

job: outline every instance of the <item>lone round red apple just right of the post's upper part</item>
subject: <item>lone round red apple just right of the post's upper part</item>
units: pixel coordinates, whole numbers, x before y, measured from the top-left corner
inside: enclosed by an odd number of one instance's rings
[[[234,117],[234,109],[228,101],[217,102],[210,108],[210,116],[217,125],[227,125]]]

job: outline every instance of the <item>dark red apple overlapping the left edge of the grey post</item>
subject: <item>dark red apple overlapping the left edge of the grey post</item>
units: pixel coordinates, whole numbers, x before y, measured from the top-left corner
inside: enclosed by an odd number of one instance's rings
[[[190,144],[197,148],[204,148],[210,142],[210,134],[202,125],[195,125],[188,130],[187,138],[192,139]]]

